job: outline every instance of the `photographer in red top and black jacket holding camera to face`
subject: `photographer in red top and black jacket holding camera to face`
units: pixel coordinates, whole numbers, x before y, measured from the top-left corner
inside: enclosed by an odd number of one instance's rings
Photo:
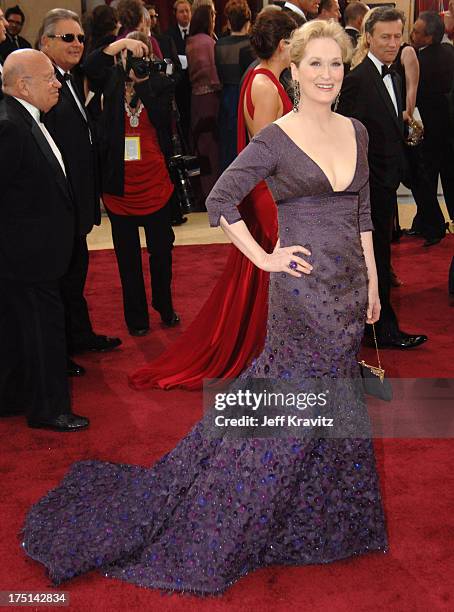
[[[149,331],[139,226],[145,229],[150,256],[152,306],[166,326],[180,321],[170,287],[176,196],[165,161],[171,154],[173,81],[149,58],[149,40],[132,32],[94,51],[84,64],[91,87],[103,94],[103,201],[112,225],[126,325],[133,336]]]

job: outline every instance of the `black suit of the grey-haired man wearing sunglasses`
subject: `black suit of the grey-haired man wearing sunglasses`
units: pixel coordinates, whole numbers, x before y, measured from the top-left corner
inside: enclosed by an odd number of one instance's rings
[[[60,99],[56,106],[47,113],[44,123],[66,162],[76,204],[76,237],[73,258],[67,274],[61,281],[68,348],[72,351],[77,344],[88,342],[93,334],[83,292],[88,271],[86,236],[93,225],[99,225],[101,221],[100,189],[94,126],[88,116],[88,121],[83,117],[61,73],[57,69],[55,73],[62,83]],[[74,87],[79,92],[77,81]],[[83,105],[83,102],[81,103]]]

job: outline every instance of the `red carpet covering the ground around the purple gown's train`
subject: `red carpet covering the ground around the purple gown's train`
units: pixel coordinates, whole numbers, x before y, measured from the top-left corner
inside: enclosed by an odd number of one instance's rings
[[[401,325],[407,331],[427,333],[430,341],[412,353],[383,351],[382,360],[390,375],[454,376],[454,310],[447,298],[453,246],[450,237],[431,249],[423,249],[420,241],[410,239],[395,248],[394,266],[405,283],[394,290]],[[181,329],[208,296],[226,251],[225,245],[175,249],[175,304],[183,318]],[[201,416],[199,393],[137,393],[127,387],[127,373],[158,354],[181,329],[161,329],[157,316],[152,315],[149,336],[133,339],[127,335],[112,252],[92,253],[87,297],[96,330],[118,334],[124,343],[111,354],[78,359],[88,372],[73,382],[74,410],[91,418],[92,426],[86,432],[33,431],[20,418],[0,421],[0,590],[51,588],[43,567],[22,554],[17,533],[27,508],[56,485],[73,461],[97,458],[150,465]],[[70,594],[70,609],[453,610],[454,442],[378,440],[376,449],[389,526],[389,554],[327,566],[268,568],[243,578],[224,596],[208,599],[163,596],[91,573],[64,586]]]

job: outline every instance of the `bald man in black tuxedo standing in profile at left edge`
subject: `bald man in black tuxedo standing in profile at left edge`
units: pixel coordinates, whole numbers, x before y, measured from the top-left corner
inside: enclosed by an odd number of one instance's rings
[[[0,413],[30,427],[77,431],[71,412],[59,279],[71,260],[74,203],[66,166],[40,111],[61,87],[40,51],[5,61],[0,102]]]

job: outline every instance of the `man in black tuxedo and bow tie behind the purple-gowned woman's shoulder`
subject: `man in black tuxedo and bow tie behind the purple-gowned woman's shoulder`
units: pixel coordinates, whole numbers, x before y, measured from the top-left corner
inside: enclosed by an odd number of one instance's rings
[[[390,74],[402,41],[404,15],[380,7],[365,24],[369,53],[344,79],[337,111],[359,119],[369,134],[370,200],[374,224],[380,321],[376,324],[380,346],[408,349],[427,340],[422,334],[399,329],[390,302],[391,233],[396,192],[404,173],[404,125],[397,75]]]

